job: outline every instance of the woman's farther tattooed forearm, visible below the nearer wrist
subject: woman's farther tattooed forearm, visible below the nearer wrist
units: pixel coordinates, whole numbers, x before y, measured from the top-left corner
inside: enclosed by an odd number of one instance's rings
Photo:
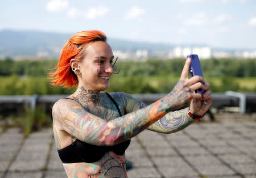
[[[160,133],[178,132],[193,123],[193,119],[188,116],[187,110],[188,108],[170,112],[147,129]]]

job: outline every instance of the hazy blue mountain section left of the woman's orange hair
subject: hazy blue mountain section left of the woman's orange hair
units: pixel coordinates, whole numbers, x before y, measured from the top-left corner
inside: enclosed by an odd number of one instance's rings
[[[37,31],[0,31],[0,56],[57,56],[69,34]],[[55,44],[54,44],[55,43]]]

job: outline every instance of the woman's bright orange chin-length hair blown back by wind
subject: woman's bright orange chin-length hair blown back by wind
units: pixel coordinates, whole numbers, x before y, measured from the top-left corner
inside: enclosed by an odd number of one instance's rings
[[[63,46],[58,65],[49,73],[53,86],[73,87],[78,84],[77,76],[71,70],[72,59],[82,60],[84,49],[94,41],[106,41],[105,33],[101,31],[82,31],[76,33]]]

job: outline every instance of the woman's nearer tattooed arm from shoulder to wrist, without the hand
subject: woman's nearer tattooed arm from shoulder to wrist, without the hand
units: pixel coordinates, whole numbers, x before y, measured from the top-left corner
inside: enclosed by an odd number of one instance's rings
[[[76,138],[93,145],[115,145],[134,137],[167,112],[167,105],[162,100],[156,101],[144,109],[106,122],[90,113],[85,113],[76,103],[60,104],[61,112],[53,115],[56,120],[63,120],[61,126]],[[65,113],[67,112],[67,113]]]

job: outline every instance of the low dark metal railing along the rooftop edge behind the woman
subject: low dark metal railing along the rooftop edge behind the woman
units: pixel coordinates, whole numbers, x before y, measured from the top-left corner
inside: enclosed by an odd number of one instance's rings
[[[151,104],[163,98],[166,94],[131,94],[134,98],[143,103]],[[27,104],[31,109],[36,108],[36,104],[53,104],[68,95],[31,95],[31,96],[0,96],[0,107],[6,104]],[[239,93],[227,91],[225,93],[212,94],[212,107],[221,109],[224,107],[239,107],[241,113],[256,112],[256,93]],[[0,108],[0,111],[1,111]]]

